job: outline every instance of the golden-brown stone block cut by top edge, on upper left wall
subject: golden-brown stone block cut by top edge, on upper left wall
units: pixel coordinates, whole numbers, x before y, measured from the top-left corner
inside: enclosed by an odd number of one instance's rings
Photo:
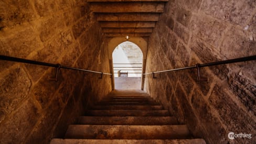
[[[39,16],[45,17],[57,11],[57,6],[54,0],[34,1],[35,9]]]

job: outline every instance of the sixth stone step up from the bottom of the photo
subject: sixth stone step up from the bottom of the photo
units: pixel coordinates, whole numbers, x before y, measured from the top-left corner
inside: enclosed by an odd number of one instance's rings
[[[95,105],[160,105],[157,102],[108,102],[102,101]]]

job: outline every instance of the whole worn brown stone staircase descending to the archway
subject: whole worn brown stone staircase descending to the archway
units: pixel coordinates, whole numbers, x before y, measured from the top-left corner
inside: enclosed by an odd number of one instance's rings
[[[179,125],[143,91],[113,91],[90,106],[86,116],[70,125],[60,143],[205,143],[193,139],[186,125]]]

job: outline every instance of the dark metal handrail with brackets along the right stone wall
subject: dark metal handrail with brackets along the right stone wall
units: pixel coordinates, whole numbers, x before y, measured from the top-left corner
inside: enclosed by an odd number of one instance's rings
[[[186,69],[197,69],[197,80],[200,80],[200,68],[202,67],[209,67],[213,65],[220,65],[220,64],[228,64],[228,63],[236,63],[236,62],[244,62],[244,61],[252,61],[256,60],[256,55],[254,56],[248,56],[248,57],[242,57],[237,59],[230,59],[230,60],[223,60],[223,61],[216,61],[216,62],[210,62],[210,63],[204,63],[204,64],[196,64],[194,66],[184,67],[184,68],[177,68],[172,70],[165,70],[165,71],[156,71],[151,73],[143,73],[143,75],[147,74],[153,74],[153,77],[155,78],[155,73],[163,73],[163,72],[170,72],[170,71],[180,71],[180,70],[186,70]]]

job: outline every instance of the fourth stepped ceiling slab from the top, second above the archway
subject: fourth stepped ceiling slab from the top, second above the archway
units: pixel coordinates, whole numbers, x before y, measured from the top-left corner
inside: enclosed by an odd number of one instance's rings
[[[147,33],[152,32],[153,28],[103,28],[104,33],[115,33],[115,32],[136,32],[136,33]]]

